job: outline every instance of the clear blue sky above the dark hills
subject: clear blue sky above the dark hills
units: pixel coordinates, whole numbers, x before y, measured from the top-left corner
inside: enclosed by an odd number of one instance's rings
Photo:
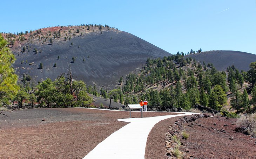
[[[200,48],[256,54],[255,0],[4,0],[1,10],[0,32],[107,24],[172,54]]]

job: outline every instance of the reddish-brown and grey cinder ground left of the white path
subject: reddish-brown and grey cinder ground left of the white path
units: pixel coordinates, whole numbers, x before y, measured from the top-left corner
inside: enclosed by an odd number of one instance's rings
[[[44,108],[0,116],[0,158],[83,158],[126,125],[129,112],[83,108]],[[144,117],[175,113],[144,112]],[[140,112],[132,112],[140,118]],[[44,121],[42,121],[44,120]],[[99,152],[100,153],[100,152]]]

